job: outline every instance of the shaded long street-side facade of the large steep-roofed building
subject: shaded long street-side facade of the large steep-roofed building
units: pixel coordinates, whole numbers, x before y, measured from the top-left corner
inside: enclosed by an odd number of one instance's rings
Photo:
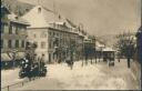
[[[49,27],[49,61],[64,61],[73,50],[73,59],[77,60],[80,37],[67,22],[50,23]]]

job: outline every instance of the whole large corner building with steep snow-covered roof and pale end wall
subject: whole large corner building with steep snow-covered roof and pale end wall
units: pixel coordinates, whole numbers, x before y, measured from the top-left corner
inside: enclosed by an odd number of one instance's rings
[[[45,62],[63,61],[69,54],[67,50],[71,44],[75,51],[78,39],[81,38],[79,41],[82,41],[83,37],[74,32],[75,29],[65,19],[41,6],[34,7],[22,18],[31,24],[28,28],[28,40],[37,43],[36,53],[38,57],[44,54]]]

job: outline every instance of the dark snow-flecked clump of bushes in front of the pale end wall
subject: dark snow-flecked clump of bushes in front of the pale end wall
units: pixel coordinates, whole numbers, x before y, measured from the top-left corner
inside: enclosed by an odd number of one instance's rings
[[[33,58],[31,58],[29,54],[27,54],[26,58],[22,60],[21,70],[19,72],[20,78],[28,77],[29,79],[36,78],[36,77],[45,77],[47,74],[47,68],[44,63],[44,54],[42,54],[41,58],[37,59],[37,54],[34,54]]]

